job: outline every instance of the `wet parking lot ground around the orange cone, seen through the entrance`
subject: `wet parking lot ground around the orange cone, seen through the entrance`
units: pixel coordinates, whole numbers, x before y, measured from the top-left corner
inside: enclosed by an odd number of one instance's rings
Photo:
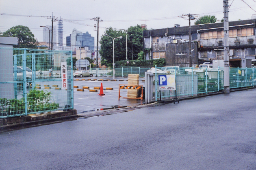
[[[77,81],[77,79],[81,81]],[[95,79],[95,81],[87,79]],[[142,104],[140,99],[118,100],[118,85],[128,84],[127,77],[115,77],[117,81],[98,81],[101,79],[113,80],[113,77],[74,78],[74,86],[78,86],[78,88],[74,88],[74,109],[77,110],[78,114],[84,114],[90,111],[104,110],[109,108],[135,106]],[[143,85],[143,87],[145,87],[145,82],[143,82],[142,80],[144,80],[144,77],[139,78],[139,85]],[[94,87],[100,87],[101,83],[103,85],[103,92],[105,94],[104,96],[98,95],[100,93],[99,89],[98,92],[90,92],[89,89],[84,89],[84,91],[77,91],[77,89],[82,89],[83,86],[87,86],[90,89],[93,89]],[[112,87],[113,90],[106,90],[106,87]],[[127,90],[121,89],[120,95],[127,97]]]

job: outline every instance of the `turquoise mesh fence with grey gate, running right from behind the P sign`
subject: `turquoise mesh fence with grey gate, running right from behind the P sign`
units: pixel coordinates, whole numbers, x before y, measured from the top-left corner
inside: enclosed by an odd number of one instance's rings
[[[147,79],[154,81],[154,85],[147,84],[147,87],[150,89],[148,91],[150,95],[147,96],[148,101],[146,103],[153,100],[157,101],[160,99],[160,96],[162,100],[174,98],[174,90],[161,90],[160,94],[158,76],[163,74],[176,75],[176,90],[179,98],[216,92],[223,89],[223,68],[198,69],[175,67],[165,70],[164,73],[161,73],[161,69],[162,67],[156,67],[154,75],[151,74],[151,77],[147,77]],[[254,87],[255,82],[256,68],[230,68],[230,88]]]

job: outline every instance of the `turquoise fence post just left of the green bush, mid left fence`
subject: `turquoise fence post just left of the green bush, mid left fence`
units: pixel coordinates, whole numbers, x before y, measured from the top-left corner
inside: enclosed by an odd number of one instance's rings
[[[27,79],[26,79],[26,48],[23,49],[22,55],[22,71],[23,71],[23,96],[25,102],[25,114],[28,114],[28,102],[27,102]]]

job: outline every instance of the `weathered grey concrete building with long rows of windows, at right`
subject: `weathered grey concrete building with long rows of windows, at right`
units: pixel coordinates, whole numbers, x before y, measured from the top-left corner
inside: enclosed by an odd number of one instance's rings
[[[223,60],[223,22],[191,26],[193,66]],[[189,26],[143,31],[146,59],[165,58],[167,66],[189,66]],[[230,59],[255,59],[255,19],[229,22]]]

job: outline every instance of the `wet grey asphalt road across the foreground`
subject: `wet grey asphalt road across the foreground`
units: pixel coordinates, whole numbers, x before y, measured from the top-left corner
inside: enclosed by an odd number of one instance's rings
[[[0,170],[255,170],[256,89],[0,134]]]

